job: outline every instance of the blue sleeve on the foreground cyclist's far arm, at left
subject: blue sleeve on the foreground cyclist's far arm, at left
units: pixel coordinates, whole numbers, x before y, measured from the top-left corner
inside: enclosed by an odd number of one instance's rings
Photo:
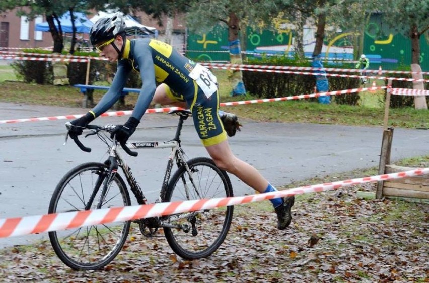
[[[130,71],[131,68],[129,66],[120,62],[118,63],[118,68],[116,70],[115,77],[113,78],[112,85],[101,98],[100,102],[92,109],[96,117],[106,112],[120,98]]]

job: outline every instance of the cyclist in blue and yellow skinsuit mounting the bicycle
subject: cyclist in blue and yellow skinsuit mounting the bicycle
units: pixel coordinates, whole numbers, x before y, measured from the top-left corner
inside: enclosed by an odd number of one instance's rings
[[[158,103],[189,108],[202,144],[219,168],[260,193],[276,191],[256,168],[231,152],[218,113],[217,79],[208,69],[164,42],[150,38],[127,39],[125,23],[119,14],[99,19],[91,28],[90,40],[101,56],[111,62],[117,61],[117,71],[100,102],[86,115],[72,121],[77,127],[69,131],[70,136],[82,134],[82,127],[107,111],[121,96],[128,74],[136,70],[141,76],[141,92],[131,117],[114,129],[112,135],[116,135],[118,141],[126,142],[134,133],[153,98]],[[161,84],[156,87],[156,82]],[[278,218],[277,228],[283,230],[291,222],[294,197],[271,199],[271,202]]]

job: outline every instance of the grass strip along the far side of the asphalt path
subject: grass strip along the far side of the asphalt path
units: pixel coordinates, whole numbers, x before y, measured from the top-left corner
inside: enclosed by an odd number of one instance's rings
[[[220,83],[221,102],[257,99],[254,96],[230,97],[232,90],[226,71],[214,70]],[[14,80],[10,66],[0,66],[0,102],[25,103],[34,105],[81,107],[82,95],[79,89],[71,86],[52,86],[27,84]],[[100,83],[99,83],[100,84]],[[104,91],[94,91],[94,101],[104,95]],[[297,122],[342,125],[383,125],[384,107],[380,107],[381,92],[361,93],[363,102],[360,106],[330,105],[308,100],[258,103],[223,107],[222,110],[233,112],[242,119],[266,122]],[[126,98],[125,109],[132,109],[137,96]],[[390,109],[389,126],[403,128],[429,128],[427,111],[412,108]]]

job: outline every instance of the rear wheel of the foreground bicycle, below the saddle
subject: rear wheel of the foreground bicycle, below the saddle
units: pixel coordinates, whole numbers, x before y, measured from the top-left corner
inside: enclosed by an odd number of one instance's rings
[[[190,184],[189,174],[182,165],[171,178],[164,201],[185,201],[196,199],[211,199],[232,197],[233,190],[227,173],[219,169],[213,160],[205,157],[197,157],[187,161],[189,169],[193,173],[195,185],[200,190],[197,196],[194,190],[187,197],[184,193],[183,178]],[[205,187],[203,187],[205,185]],[[208,187],[207,187],[208,185]],[[164,227],[164,235],[172,250],[186,260],[205,258],[215,252],[224,242],[231,226],[233,218],[233,206],[198,211],[194,213],[182,213],[166,217],[167,222],[173,225],[190,224],[190,219],[195,223],[197,235],[191,235],[183,229]]]

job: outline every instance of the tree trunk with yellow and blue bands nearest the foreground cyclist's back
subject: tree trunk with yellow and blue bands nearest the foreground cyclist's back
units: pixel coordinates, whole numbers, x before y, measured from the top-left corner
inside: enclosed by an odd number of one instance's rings
[[[228,21],[228,41],[230,47],[231,64],[242,64],[241,46],[239,39],[240,19],[234,12],[230,13]],[[231,96],[245,95],[246,89],[243,84],[243,74],[241,71],[229,70],[229,78],[232,81],[233,90]]]

